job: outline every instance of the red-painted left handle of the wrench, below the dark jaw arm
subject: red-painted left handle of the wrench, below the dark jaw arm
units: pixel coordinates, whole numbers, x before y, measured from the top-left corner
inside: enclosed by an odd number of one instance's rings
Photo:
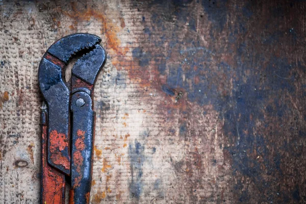
[[[42,127],[42,203],[64,203],[65,176],[47,163],[47,126]]]

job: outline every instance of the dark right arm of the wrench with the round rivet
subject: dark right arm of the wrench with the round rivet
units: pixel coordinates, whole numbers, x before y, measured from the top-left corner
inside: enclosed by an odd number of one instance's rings
[[[89,203],[92,178],[95,113],[88,93],[73,93],[72,113],[71,191],[69,204]]]

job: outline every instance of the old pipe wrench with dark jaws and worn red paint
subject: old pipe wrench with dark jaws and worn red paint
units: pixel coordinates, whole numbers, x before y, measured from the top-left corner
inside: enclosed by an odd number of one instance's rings
[[[101,39],[73,34],[55,42],[39,64],[38,81],[44,97],[41,113],[41,203],[65,202],[65,183],[71,182],[69,203],[89,203],[95,113],[94,83],[106,62]],[[64,81],[65,68],[82,56]],[[70,136],[71,133],[71,136]]]

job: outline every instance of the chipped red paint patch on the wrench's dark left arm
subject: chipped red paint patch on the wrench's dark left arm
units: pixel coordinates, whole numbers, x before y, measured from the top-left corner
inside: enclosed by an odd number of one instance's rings
[[[69,148],[69,142],[65,138],[65,134],[58,133],[56,130],[53,130],[49,134],[50,141],[50,154],[52,161],[56,165],[63,165],[65,169],[70,168],[70,157],[68,158],[63,155],[62,150]]]

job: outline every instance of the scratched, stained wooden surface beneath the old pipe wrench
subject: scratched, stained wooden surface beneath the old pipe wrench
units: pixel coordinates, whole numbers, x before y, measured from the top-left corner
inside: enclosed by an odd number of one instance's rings
[[[0,203],[38,203],[37,70],[100,36],[91,203],[305,203],[305,1],[0,1]]]

